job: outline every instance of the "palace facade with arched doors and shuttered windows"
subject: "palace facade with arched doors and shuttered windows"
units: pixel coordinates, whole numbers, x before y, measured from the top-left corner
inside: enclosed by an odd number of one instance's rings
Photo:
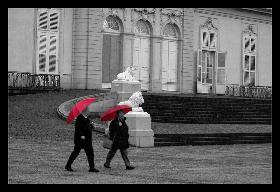
[[[8,72],[110,90],[129,66],[149,92],[272,86],[272,10],[8,9]]]

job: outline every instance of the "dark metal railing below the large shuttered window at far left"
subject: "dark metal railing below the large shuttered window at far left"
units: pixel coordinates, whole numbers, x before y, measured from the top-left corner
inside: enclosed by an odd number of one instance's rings
[[[59,75],[9,72],[9,89],[59,90]]]

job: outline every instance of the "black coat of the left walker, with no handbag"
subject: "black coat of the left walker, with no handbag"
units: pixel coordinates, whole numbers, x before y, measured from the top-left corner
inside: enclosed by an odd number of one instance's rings
[[[84,117],[82,113],[78,115],[75,124],[75,135],[74,135],[74,143],[82,147],[82,149],[86,146],[92,145],[92,131],[93,126],[91,125],[91,121]],[[85,139],[81,137],[85,136]]]

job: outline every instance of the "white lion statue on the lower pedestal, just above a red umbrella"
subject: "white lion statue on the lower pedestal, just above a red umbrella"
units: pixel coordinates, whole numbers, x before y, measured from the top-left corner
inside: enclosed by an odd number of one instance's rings
[[[142,93],[138,91],[133,93],[128,101],[122,101],[118,105],[128,105],[133,112],[144,112],[142,107],[139,107],[142,103],[144,103],[144,99]]]

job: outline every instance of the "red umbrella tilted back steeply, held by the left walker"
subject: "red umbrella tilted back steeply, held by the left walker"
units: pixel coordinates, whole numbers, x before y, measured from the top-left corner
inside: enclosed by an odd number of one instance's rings
[[[71,121],[73,121],[87,106],[89,106],[96,99],[97,98],[86,98],[75,104],[68,115],[67,125],[71,123]]]

